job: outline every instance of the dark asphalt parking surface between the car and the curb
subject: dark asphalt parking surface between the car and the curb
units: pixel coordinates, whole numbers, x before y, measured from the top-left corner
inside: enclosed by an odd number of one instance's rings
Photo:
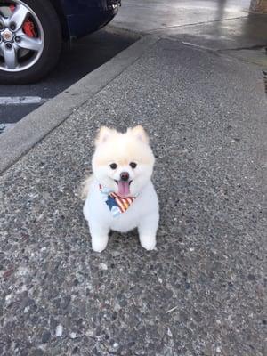
[[[0,131],[25,117],[29,112],[68,88],[87,73],[100,67],[117,53],[133,44],[132,37],[111,34],[105,30],[85,36],[74,43],[64,44],[61,60],[53,72],[34,85],[0,85]],[[40,97],[40,103],[6,104],[29,97],[28,102]],[[31,98],[31,99],[30,99]],[[3,125],[4,124],[4,125]]]

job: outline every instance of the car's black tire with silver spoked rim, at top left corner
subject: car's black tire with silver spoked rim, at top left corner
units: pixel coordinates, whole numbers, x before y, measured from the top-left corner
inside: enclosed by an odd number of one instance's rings
[[[4,61],[4,59],[7,57],[4,57],[3,54],[2,61],[4,62],[4,64],[2,63],[2,67],[0,66],[0,83],[2,85],[25,85],[34,83],[45,77],[54,68],[57,61],[59,60],[62,44],[61,22],[56,11],[53,8],[53,5],[47,0],[12,0],[11,6],[18,6],[14,7],[14,9],[18,9],[18,11],[24,6],[28,11],[27,16],[32,16],[33,23],[34,21],[36,21],[36,33],[38,33],[38,35],[36,36],[39,36],[40,38],[34,39],[38,40],[42,44],[42,48],[40,48],[40,50],[35,50],[35,52],[32,52],[36,57],[33,57],[34,60],[30,61],[29,56],[28,63],[27,65],[24,65],[24,67],[20,66],[20,63],[18,64],[18,66],[16,66],[16,64],[12,64],[11,68],[7,67],[7,64]],[[2,18],[2,20],[4,20],[4,18]],[[20,34],[22,34],[22,32],[24,31],[24,28],[22,26],[25,26],[25,23],[23,22],[23,24],[24,25],[21,25],[20,28]],[[6,26],[7,32],[10,31],[10,23]],[[20,23],[18,22],[18,28],[19,26]],[[9,33],[7,35],[9,36]],[[5,34],[5,36],[7,35]],[[13,47],[15,48],[15,46],[19,44],[16,44],[15,40],[19,38],[17,40],[19,41],[20,36],[16,36],[15,32],[12,36],[12,44],[8,45],[13,45]],[[27,34],[25,36],[27,36]],[[25,36],[23,33],[21,38],[24,38]],[[9,47],[7,47],[6,42],[4,42],[3,36],[1,39],[1,44],[5,46],[5,51],[6,48]],[[28,40],[28,37],[26,39]],[[22,45],[22,41],[20,45]],[[15,49],[13,51],[14,53],[20,53],[20,51],[28,51],[28,53],[31,53],[31,50],[28,50],[28,48],[27,50],[25,50],[24,48],[20,48],[18,52],[16,52]],[[19,61],[19,54],[17,55],[17,57]]]

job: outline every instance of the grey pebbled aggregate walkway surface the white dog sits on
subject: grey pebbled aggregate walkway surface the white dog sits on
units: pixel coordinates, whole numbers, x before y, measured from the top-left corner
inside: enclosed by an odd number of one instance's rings
[[[1,177],[0,354],[263,356],[266,112],[259,68],[159,40]],[[158,249],[93,253],[77,187],[100,125],[142,124]]]

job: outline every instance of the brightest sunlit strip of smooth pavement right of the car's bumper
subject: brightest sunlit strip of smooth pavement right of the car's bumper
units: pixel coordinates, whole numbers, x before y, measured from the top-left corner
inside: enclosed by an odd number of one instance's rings
[[[249,0],[125,0],[113,24],[152,32],[247,16]]]

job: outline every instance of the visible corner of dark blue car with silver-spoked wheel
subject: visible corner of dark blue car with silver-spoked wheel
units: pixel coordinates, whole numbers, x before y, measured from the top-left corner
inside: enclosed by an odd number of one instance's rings
[[[0,0],[0,83],[21,85],[46,76],[63,40],[104,27],[120,0]]]

